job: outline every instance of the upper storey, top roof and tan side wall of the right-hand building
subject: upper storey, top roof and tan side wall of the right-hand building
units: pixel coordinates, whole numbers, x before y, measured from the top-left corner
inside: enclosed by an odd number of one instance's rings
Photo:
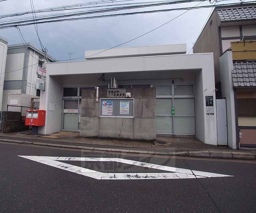
[[[256,4],[219,6],[214,9],[193,46],[193,53],[213,53],[216,97],[221,97],[220,55],[231,41],[256,39]]]

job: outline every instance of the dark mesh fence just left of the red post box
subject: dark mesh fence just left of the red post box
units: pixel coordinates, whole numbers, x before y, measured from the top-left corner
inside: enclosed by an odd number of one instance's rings
[[[30,107],[7,105],[6,121],[20,121],[26,116],[26,110]]]

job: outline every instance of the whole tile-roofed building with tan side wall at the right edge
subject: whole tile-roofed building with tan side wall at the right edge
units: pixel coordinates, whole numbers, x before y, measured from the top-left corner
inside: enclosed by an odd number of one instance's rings
[[[256,146],[256,4],[216,7],[193,47],[213,52],[232,148]]]

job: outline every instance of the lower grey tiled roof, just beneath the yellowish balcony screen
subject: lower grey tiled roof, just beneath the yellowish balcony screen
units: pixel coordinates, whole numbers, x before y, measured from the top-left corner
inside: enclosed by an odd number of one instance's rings
[[[234,62],[232,79],[234,87],[256,87],[256,61]]]

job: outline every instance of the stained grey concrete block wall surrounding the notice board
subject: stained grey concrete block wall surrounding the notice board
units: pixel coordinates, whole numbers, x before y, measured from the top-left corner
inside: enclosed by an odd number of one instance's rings
[[[84,88],[80,136],[155,140],[155,88],[128,88],[127,92],[134,98],[134,118],[100,117],[100,101],[96,103],[96,89]],[[107,98],[106,88],[99,90],[99,98]]]

